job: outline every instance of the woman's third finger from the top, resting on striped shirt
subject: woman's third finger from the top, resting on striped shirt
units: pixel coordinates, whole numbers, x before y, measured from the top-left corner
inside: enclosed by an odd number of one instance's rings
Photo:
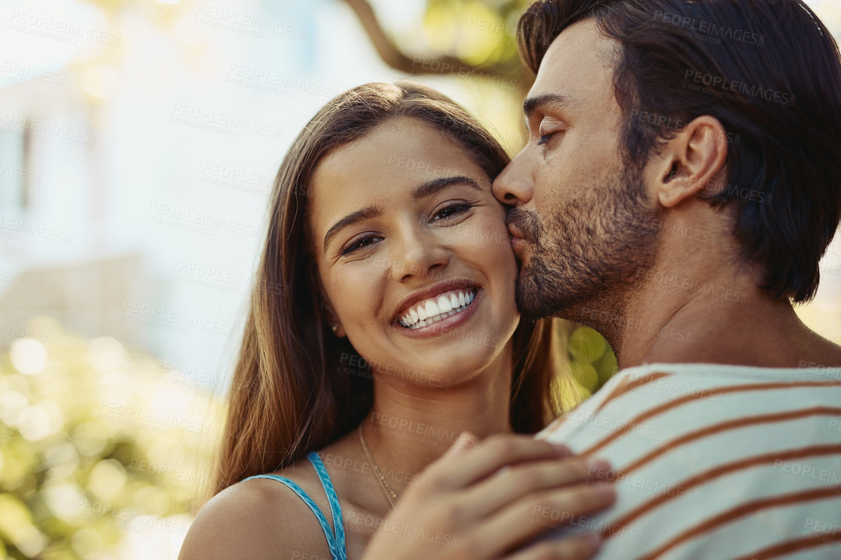
[[[468,538],[480,547],[478,557],[495,557],[579,520],[581,515],[603,510],[615,499],[612,487],[586,483],[529,494],[491,516]]]

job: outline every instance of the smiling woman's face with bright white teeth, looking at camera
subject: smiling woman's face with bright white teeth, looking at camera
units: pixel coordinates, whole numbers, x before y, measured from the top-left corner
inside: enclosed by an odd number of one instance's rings
[[[519,320],[516,261],[505,208],[461,145],[390,120],[321,161],[311,187],[336,332],[375,375],[440,387],[500,355]]]

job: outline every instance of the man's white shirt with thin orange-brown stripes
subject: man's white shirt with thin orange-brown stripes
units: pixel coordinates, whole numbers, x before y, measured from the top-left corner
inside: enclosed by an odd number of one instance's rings
[[[600,560],[841,558],[841,367],[632,367],[537,437],[616,469],[604,514],[534,514]]]

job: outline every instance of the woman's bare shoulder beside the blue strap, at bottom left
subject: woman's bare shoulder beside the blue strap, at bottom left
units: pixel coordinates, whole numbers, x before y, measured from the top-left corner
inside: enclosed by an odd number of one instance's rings
[[[292,480],[321,505],[322,499],[314,495],[313,483],[320,483],[312,468],[299,462],[271,474]],[[330,519],[329,514],[327,517]],[[178,558],[274,560],[308,554],[331,556],[324,531],[309,506],[277,480],[251,478],[222,490],[199,510]]]

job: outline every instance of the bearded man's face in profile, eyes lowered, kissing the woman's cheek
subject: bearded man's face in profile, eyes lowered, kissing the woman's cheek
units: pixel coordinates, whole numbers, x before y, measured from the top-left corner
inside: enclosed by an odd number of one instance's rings
[[[587,324],[595,308],[618,312],[633,273],[653,262],[656,240],[633,227],[653,212],[642,166],[622,159],[620,52],[591,19],[553,41],[525,103],[529,143],[494,183],[495,197],[516,205],[508,224],[526,316]]]

